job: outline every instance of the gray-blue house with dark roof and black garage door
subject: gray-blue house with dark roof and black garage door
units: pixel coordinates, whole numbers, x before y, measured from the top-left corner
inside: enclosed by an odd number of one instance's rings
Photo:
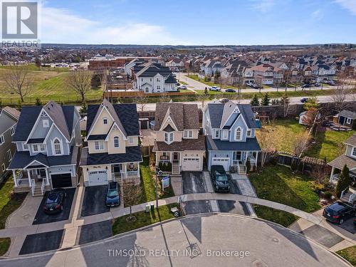
[[[80,115],[73,105],[50,101],[23,107],[13,136],[16,153],[9,170],[15,192],[42,195],[58,187],[76,187]]]

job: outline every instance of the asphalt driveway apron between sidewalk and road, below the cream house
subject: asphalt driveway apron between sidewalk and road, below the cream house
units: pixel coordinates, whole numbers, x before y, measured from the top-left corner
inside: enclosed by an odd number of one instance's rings
[[[78,229],[76,245],[106,239],[112,236],[111,220],[100,221],[95,224],[86,224]]]

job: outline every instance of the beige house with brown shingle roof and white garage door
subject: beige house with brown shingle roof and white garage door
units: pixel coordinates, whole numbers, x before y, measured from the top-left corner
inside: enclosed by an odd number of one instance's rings
[[[172,174],[202,171],[205,143],[196,104],[157,103],[154,129],[157,166],[172,164]]]

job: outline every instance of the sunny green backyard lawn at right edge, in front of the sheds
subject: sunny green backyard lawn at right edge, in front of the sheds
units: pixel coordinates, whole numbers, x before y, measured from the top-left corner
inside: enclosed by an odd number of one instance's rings
[[[330,162],[345,152],[345,145],[343,145],[343,142],[354,133],[355,131],[337,132],[333,130],[318,132],[315,144],[310,146],[305,152],[305,155],[318,157],[319,159],[326,158],[326,161]]]

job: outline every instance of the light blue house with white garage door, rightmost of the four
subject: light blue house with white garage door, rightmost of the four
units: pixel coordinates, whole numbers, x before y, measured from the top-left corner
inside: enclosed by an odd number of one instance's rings
[[[203,129],[206,135],[206,155],[208,168],[222,165],[246,173],[246,161],[251,167],[257,166],[258,152],[256,140],[258,128],[251,105],[236,104],[230,100],[214,100],[204,108]]]

